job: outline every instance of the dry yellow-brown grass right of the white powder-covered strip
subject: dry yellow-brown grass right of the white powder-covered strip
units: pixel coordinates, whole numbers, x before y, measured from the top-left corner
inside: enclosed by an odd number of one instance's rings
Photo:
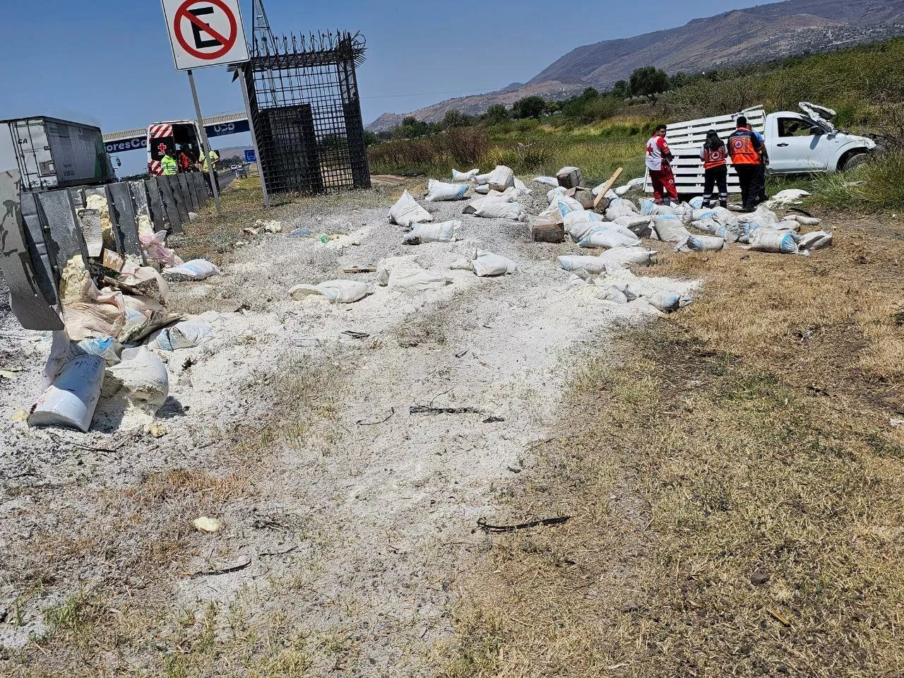
[[[904,243],[837,235],[654,271],[706,292],[587,352],[499,521],[574,517],[494,537],[447,676],[904,673]]]

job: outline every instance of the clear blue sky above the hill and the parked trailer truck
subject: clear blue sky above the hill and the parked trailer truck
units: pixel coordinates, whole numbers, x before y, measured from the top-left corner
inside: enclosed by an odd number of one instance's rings
[[[762,0],[647,0],[561,5],[490,0],[396,5],[363,0],[265,0],[276,33],[362,31],[365,124],[442,99],[530,80],[579,45],[686,24]],[[173,66],[157,0],[0,0],[0,118],[48,115],[105,132],[193,118],[184,73]],[[242,0],[250,32],[251,0]],[[225,68],[197,71],[204,115],[242,108]],[[219,137],[214,147],[250,143]],[[138,171],[141,152],[121,155]]]

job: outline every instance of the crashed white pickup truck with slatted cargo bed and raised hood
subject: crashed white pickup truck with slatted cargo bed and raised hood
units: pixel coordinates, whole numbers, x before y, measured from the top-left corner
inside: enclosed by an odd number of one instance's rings
[[[876,148],[876,142],[868,137],[843,132],[831,119],[831,108],[808,102],[800,104],[803,113],[781,111],[769,113],[759,106],[742,110],[730,116],[702,118],[669,125],[666,140],[672,148],[672,168],[678,193],[701,195],[703,193],[703,164],[700,149],[706,133],[715,129],[725,140],[737,128],[739,116],[748,118],[749,124],[766,139],[769,155],[769,174],[803,174],[811,172],[842,172],[861,165]],[[647,193],[653,191],[649,181]],[[729,170],[729,193],[740,193],[738,176]]]

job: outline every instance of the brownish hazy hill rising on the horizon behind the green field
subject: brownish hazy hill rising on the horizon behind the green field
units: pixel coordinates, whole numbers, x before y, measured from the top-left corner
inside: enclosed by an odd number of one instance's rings
[[[610,88],[637,68],[697,73],[828,52],[904,34],[904,0],[791,0],[694,19],[679,28],[578,47],[523,86],[448,99],[407,115],[436,122],[449,110],[469,115],[534,94],[566,99],[586,87]],[[404,115],[387,113],[368,128],[385,131]]]

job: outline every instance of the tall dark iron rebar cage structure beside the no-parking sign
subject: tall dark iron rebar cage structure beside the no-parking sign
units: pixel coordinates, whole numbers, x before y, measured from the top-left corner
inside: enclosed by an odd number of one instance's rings
[[[370,188],[356,68],[361,33],[256,32],[243,67],[270,193]]]

